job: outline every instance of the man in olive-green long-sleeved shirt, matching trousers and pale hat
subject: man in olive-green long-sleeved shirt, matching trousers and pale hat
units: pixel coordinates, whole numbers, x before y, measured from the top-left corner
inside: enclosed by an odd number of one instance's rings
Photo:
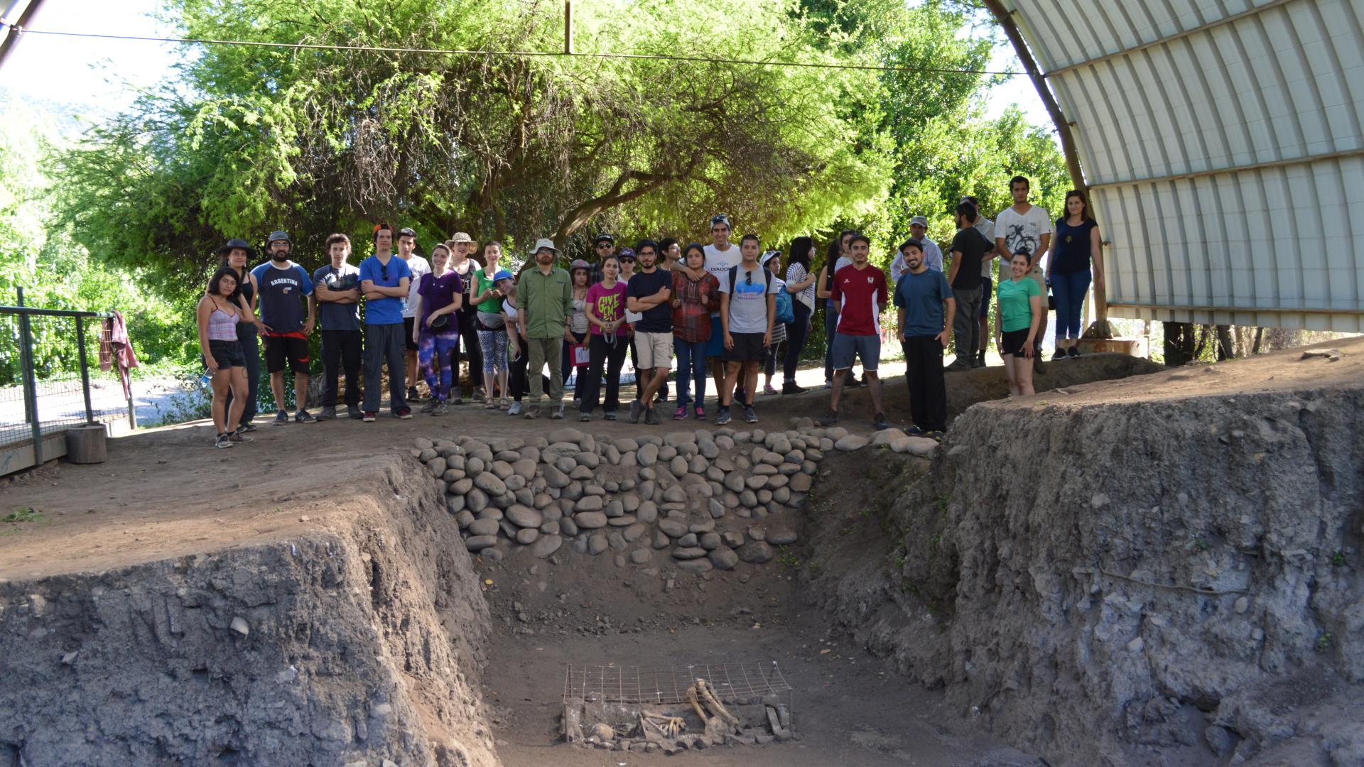
[[[554,240],[542,237],[535,243],[535,269],[527,269],[517,280],[517,323],[525,336],[531,378],[531,407],[525,418],[540,418],[544,381],[540,373],[550,366],[550,418],[563,418],[563,326],[573,313],[573,280],[554,265],[559,248]]]

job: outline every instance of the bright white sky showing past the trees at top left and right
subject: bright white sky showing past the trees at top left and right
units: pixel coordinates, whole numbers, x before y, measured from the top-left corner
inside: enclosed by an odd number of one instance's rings
[[[8,4],[0,0],[0,8]],[[170,30],[153,18],[157,5],[158,0],[44,0],[29,26],[52,31],[166,35]],[[0,67],[0,89],[72,104],[91,117],[112,115],[128,106],[138,89],[168,78],[180,55],[170,44],[29,34]],[[996,49],[990,68],[1022,71],[1007,45]],[[1034,124],[1048,120],[1033,83],[1024,76],[1011,78],[986,94],[990,117],[1011,104],[1018,104]]]

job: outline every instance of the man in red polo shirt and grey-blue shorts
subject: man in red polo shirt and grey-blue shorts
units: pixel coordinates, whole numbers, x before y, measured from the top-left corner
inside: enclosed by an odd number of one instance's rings
[[[872,426],[877,430],[889,426],[881,408],[881,379],[877,367],[881,362],[881,313],[889,302],[885,288],[885,273],[868,263],[872,240],[866,235],[853,235],[848,240],[853,263],[833,274],[829,300],[835,303],[839,315],[837,333],[833,336],[833,390],[829,397],[829,415],[820,419],[821,426],[839,422],[839,399],[843,396],[844,371],[853,368],[857,358],[862,359],[868,390],[872,393],[874,416]]]

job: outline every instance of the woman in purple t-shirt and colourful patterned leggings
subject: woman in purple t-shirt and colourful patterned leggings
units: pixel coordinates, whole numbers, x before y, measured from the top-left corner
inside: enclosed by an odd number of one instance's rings
[[[431,248],[431,273],[423,274],[417,283],[417,302],[413,314],[420,318],[412,328],[412,340],[417,345],[417,374],[426,378],[431,389],[431,401],[421,412],[445,415],[446,401],[464,404],[460,386],[451,382],[450,367],[460,348],[460,315],[456,314],[464,303],[464,278],[458,272],[446,272],[450,262],[450,248],[443,244]]]

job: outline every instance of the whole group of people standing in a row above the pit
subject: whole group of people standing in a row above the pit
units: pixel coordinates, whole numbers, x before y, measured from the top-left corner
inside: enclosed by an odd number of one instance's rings
[[[825,388],[831,390],[821,423],[839,422],[847,386],[866,385],[873,427],[889,424],[877,370],[881,314],[893,303],[907,363],[910,431],[941,437],[947,426],[944,370],[985,364],[996,258],[1004,262],[993,291],[1001,317],[998,349],[1013,394],[1033,393],[1033,368],[1041,370],[1046,285],[1057,306],[1056,356],[1079,355],[1079,310],[1091,274],[1102,285],[1098,229],[1084,195],[1067,195],[1067,216],[1054,222],[1053,237],[1046,210],[1027,201],[1027,179],[1015,177],[1011,191],[1013,206],[993,222],[978,212],[974,198],[962,199],[949,261],[928,239],[928,221],[914,218],[889,280],[869,262],[870,239],[862,233],[847,231],[833,240],[817,274],[814,242],[797,237],[783,273],[782,254],[764,251],[757,235],[731,242],[732,225],[724,214],[711,218],[709,244],[641,239],[618,248],[614,236],[602,233],[592,242],[595,262],[577,259],[566,269],[554,242],[542,239],[517,274],[501,267],[501,243],[486,243],[480,258],[477,244],[462,232],[431,247],[427,259],[417,254],[416,232],[379,224],[372,232],[374,255],[359,266],[348,262],[349,237],[331,235],[329,262],[311,274],[291,259],[293,243],[285,232],[270,233],[269,259],[255,267],[250,267],[255,248],[229,240],[217,251],[221,266],[198,308],[216,444],[229,448],[250,441],[247,433],[255,430],[258,338],[265,345],[277,424],[291,422],[285,368],[293,373],[296,423],[337,418],[341,375],[346,415],[375,420],[385,373],[391,415],[412,418],[417,381],[430,393],[421,411],[445,415],[449,405],[464,403],[461,347],[469,360],[469,394],[487,409],[562,419],[565,381],[577,370],[578,419],[592,420],[600,407],[602,418],[615,420],[629,353],[637,390],[626,405],[632,423],[662,423],[674,358],[674,420],[705,420],[707,388],[713,381],[716,423],[735,416],[757,423],[760,371],[767,377],[764,393],[777,393],[772,385],[777,366],[782,393],[805,390],[795,373],[818,299],[825,302]],[[1052,258],[1043,270],[1048,252]],[[307,401],[308,338],[319,322],[325,381],[314,416]],[[952,337],[956,362],[944,368]],[[853,375],[857,362],[861,381]]]

